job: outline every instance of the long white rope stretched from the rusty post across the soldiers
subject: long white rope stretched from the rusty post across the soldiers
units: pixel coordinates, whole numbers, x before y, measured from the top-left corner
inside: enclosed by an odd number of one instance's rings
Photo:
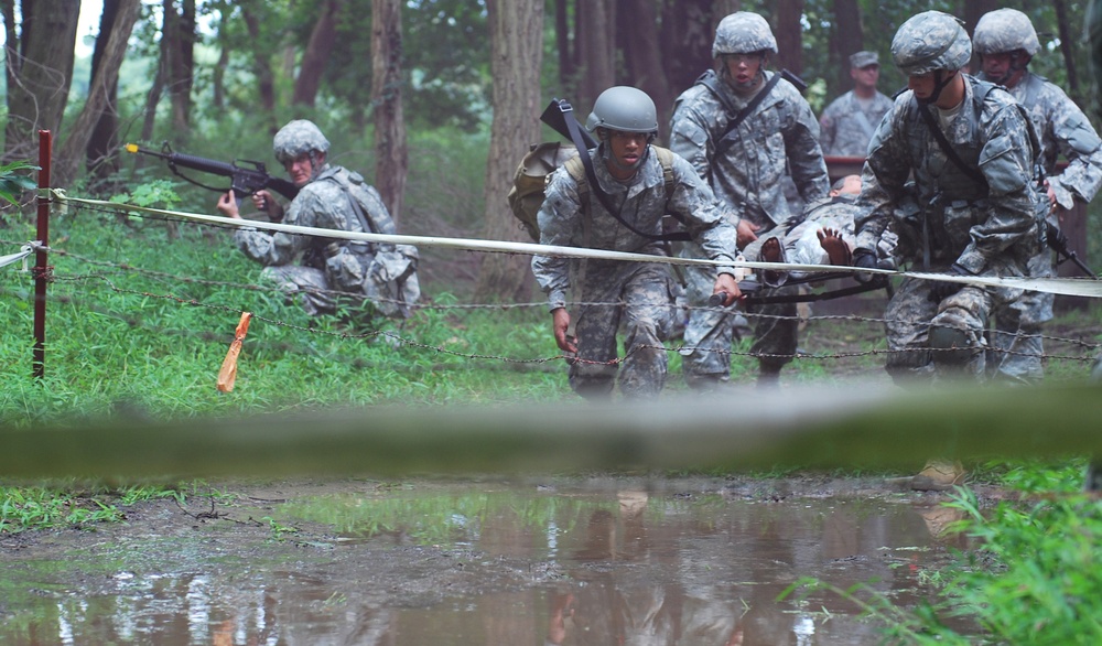
[[[463,249],[467,251],[495,251],[509,254],[525,254],[529,256],[553,256],[558,258],[591,258],[598,260],[622,260],[627,262],[665,262],[667,265],[698,265],[709,267],[744,267],[747,269],[768,269],[773,271],[803,271],[824,273],[876,273],[884,276],[898,276],[904,278],[918,278],[922,280],[937,280],[942,282],[959,282],[979,287],[1023,289],[1027,291],[1048,292],[1069,297],[1102,298],[1102,280],[1080,279],[1080,278],[1019,278],[1019,277],[980,277],[980,276],[957,276],[949,273],[923,273],[914,271],[898,271],[894,269],[864,269],[857,267],[839,265],[800,265],[795,262],[756,262],[744,259],[734,262],[721,260],[707,260],[702,258],[676,258],[670,256],[653,256],[650,254],[629,254],[626,251],[609,251],[604,249],[585,249],[581,247],[559,247],[552,245],[538,245],[534,243],[515,243],[507,240],[480,240],[473,238],[444,238],[435,236],[406,236],[343,232],[336,229],[324,229],[316,227],[303,227],[274,222],[261,222],[253,219],[240,219],[223,217],[218,215],[205,215],[197,213],[185,213],[181,211],[164,211],[137,206],[133,204],[120,204],[117,202],[104,202],[100,200],[85,200],[68,197],[60,189],[52,189],[54,197],[62,203],[85,204],[102,208],[139,211],[207,222],[223,226],[229,226],[246,230],[264,229],[271,232],[283,232],[288,234],[299,234],[304,236],[315,236],[323,238],[336,238],[343,240],[357,240],[366,243],[378,243],[389,245],[413,245],[420,247],[442,247],[450,249]]]

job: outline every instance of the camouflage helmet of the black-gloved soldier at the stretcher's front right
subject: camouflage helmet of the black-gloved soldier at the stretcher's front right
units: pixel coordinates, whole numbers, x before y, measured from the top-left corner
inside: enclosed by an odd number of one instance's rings
[[[940,11],[907,19],[892,39],[892,60],[907,76],[960,69],[972,58],[972,41],[960,20]]]

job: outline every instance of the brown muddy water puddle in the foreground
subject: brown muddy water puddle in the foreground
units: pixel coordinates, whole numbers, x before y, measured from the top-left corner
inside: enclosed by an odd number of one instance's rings
[[[0,644],[877,644],[842,595],[778,596],[815,578],[908,607],[949,547],[943,498],[883,483],[242,489],[3,546]]]

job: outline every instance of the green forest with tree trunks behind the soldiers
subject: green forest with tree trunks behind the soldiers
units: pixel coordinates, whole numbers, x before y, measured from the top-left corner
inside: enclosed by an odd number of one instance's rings
[[[673,99],[712,66],[715,24],[733,11],[769,20],[780,49],[770,68],[802,77],[818,114],[850,88],[845,61],[858,50],[880,54],[882,91],[905,86],[889,45],[910,15],[941,9],[971,33],[983,13],[1014,7],[1042,43],[1030,68],[1096,120],[1087,4],[3,0],[3,160],[36,160],[36,131],[51,130],[53,184],[106,198],[168,176],[163,165],[121,153],[122,143],[262,160],[281,174],[271,137],[309,118],[333,141],[331,160],[380,190],[400,232],[527,241],[504,196],[528,147],[557,138],[539,122],[551,98],[566,98],[584,119],[602,89],[640,87],[659,107],[665,139]],[[97,24],[79,32],[82,13],[100,7]],[[179,190],[181,208],[213,212],[213,194]],[[429,250],[422,280],[482,302],[528,300],[527,261]]]

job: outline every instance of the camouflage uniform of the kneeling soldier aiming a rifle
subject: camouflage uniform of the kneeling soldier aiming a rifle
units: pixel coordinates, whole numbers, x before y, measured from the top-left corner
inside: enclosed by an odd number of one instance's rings
[[[355,202],[355,204],[354,204]],[[370,232],[364,232],[361,208]],[[379,193],[359,174],[325,164],[288,207],[283,224],[356,233],[396,234]],[[404,316],[420,297],[417,248],[376,245],[287,233],[239,229],[234,235],[246,256],[264,266],[262,276],[298,297],[311,314],[331,314],[337,303],[327,290],[363,294],[386,315]]]

